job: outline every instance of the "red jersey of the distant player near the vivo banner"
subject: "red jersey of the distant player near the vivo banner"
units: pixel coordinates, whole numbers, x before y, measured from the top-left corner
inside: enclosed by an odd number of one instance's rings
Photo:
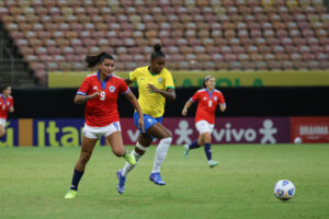
[[[198,102],[195,123],[206,120],[209,124],[215,124],[216,107],[218,104],[225,104],[223,93],[216,89],[212,93],[207,89],[201,89],[194,93],[191,101]]]

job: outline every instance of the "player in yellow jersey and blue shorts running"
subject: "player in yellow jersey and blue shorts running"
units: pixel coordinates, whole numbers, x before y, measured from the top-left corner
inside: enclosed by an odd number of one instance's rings
[[[152,139],[160,140],[156,150],[154,168],[149,180],[157,185],[166,185],[160,175],[160,165],[162,164],[167,151],[171,145],[171,131],[162,125],[162,115],[164,113],[166,100],[175,100],[174,84],[171,73],[164,68],[166,55],[161,51],[159,44],[155,45],[155,51],[150,56],[150,66],[140,67],[129,73],[126,83],[131,84],[137,81],[138,84],[138,103],[144,113],[145,132],[140,130],[135,150],[132,154],[136,161],[145,153]],[[138,127],[139,115],[135,112],[134,122]],[[124,193],[126,176],[134,165],[126,162],[125,166],[117,171],[118,184],[116,189],[120,194]]]

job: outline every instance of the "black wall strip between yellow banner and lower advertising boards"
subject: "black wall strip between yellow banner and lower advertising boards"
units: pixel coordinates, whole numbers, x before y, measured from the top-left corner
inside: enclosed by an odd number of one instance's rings
[[[180,116],[185,102],[198,88],[178,88],[177,100],[167,102],[164,116]],[[137,89],[133,89],[137,93]],[[328,116],[329,87],[223,88],[227,112],[223,116]],[[14,89],[15,118],[83,117],[83,105],[75,105],[77,89]],[[193,116],[194,104],[189,112]],[[132,117],[133,107],[118,100],[122,117]],[[217,112],[219,115],[220,113]]]

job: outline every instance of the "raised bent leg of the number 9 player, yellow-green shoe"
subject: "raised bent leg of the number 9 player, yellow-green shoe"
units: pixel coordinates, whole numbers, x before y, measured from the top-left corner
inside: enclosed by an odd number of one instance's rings
[[[106,139],[111,145],[113,154],[124,158],[132,165],[136,164],[135,158],[131,155],[123,146],[121,131],[112,132],[111,135],[106,136]]]

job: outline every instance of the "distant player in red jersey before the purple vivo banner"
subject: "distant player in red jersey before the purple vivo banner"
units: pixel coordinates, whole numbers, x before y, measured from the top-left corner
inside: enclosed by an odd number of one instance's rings
[[[184,146],[184,155],[185,158],[188,158],[191,149],[204,146],[204,151],[211,168],[214,168],[218,164],[216,161],[213,160],[211,149],[212,132],[215,125],[216,107],[219,104],[219,110],[222,112],[226,110],[224,95],[220,91],[215,89],[215,78],[213,76],[207,76],[204,79],[204,89],[196,91],[194,95],[186,102],[182,111],[182,115],[186,116],[189,107],[194,102],[197,102],[195,127],[200,135],[197,140],[194,140],[192,143]]]

